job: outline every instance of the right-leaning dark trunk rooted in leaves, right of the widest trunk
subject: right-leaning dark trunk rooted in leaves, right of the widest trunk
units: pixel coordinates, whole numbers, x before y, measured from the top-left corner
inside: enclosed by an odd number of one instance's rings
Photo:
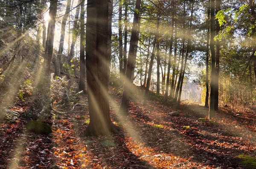
[[[134,21],[131,30],[131,40],[130,40],[130,47],[129,47],[129,54],[128,54],[128,61],[125,73],[125,83],[124,83],[124,90],[122,93],[122,101],[120,110],[123,113],[128,113],[128,106],[129,106],[129,94],[131,90],[131,77],[132,77],[132,70],[134,69],[134,59],[136,56],[134,55],[136,41],[138,39],[138,23],[139,23],[139,12],[140,11],[140,3],[141,0],[136,0],[135,4],[135,12],[134,12]]]

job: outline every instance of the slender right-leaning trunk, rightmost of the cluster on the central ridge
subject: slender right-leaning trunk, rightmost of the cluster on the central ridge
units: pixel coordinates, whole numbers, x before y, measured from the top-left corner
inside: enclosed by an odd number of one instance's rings
[[[185,62],[184,62],[184,67],[183,67],[183,71],[182,71],[182,76],[181,76],[181,81],[180,81],[180,90],[179,90],[179,96],[178,96],[178,100],[177,100],[177,109],[180,106],[180,98],[181,98],[181,92],[182,92],[182,85],[183,85],[183,79],[184,79],[184,75],[185,75],[185,71],[186,71],[186,63],[188,60],[188,56],[189,56],[189,48],[190,48],[190,41],[191,41],[191,28],[192,28],[192,19],[193,19],[193,11],[194,11],[194,0],[192,1],[192,7],[191,7],[191,16],[190,16],[190,23],[189,23],[189,34],[188,34],[188,44],[186,46],[186,55],[185,55]]]

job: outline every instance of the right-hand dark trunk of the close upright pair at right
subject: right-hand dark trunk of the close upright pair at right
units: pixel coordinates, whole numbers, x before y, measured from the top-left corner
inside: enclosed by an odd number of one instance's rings
[[[218,13],[218,11],[221,10],[221,0],[216,0],[216,14]],[[219,33],[219,31],[221,30],[221,27],[218,23],[218,20],[216,20],[216,34]],[[214,110],[216,112],[218,112],[218,74],[220,71],[220,41],[218,39],[216,39],[216,61],[215,61],[215,71],[216,71],[216,77],[215,77],[215,81],[216,81],[216,90],[214,91],[215,94],[215,101],[214,101]]]

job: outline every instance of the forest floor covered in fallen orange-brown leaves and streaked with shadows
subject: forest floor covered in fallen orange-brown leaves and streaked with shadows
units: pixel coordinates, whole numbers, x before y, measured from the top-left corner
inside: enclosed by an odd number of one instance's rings
[[[111,119],[123,130],[98,138],[83,135],[89,124],[87,95],[78,96],[81,105],[74,110],[51,118],[50,135],[27,133],[24,114],[28,107],[15,104],[9,110],[11,118],[0,124],[0,168],[256,168],[255,112],[237,115],[221,108],[208,121],[207,108],[183,104],[180,116],[171,117],[175,106],[154,100],[143,106],[141,92],[132,93],[130,113],[123,117],[118,113],[121,95],[114,87],[109,89]]]

